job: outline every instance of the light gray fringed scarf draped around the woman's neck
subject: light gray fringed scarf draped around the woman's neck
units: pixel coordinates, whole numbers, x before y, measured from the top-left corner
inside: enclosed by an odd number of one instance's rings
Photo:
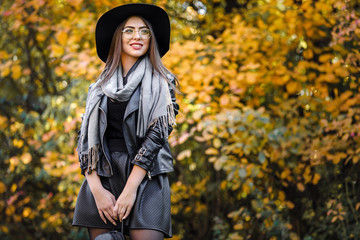
[[[104,94],[117,101],[128,101],[134,90],[140,86],[139,114],[136,136],[144,138],[150,127],[158,127],[161,136],[168,137],[168,126],[175,124],[175,113],[167,81],[154,73],[148,57],[140,60],[136,69],[128,76],[124,86],[122,69],[119,67],[111,78],[99,84],[101,77],[91,85],[86,100],[85,114],[81,124],[81,134],[77,151],[81,165],[87,165],[87,171],[97,169],[100,151],[99,105]]]

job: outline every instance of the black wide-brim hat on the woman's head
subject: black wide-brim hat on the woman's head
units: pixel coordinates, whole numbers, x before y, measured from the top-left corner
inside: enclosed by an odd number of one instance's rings
[[[96,51],[103,62],[106,62],[116,28],[131,16],[143,17],[151,23],[161,57],[169,51],[170,20],[167,13],[162,8],[151,4],[125,4],[104,13],[96,24]]]

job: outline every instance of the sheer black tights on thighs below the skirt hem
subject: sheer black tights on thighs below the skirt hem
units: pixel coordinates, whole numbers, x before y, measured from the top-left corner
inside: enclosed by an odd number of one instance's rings
[[[88,228],[90,240],[94,240],[97,235],[109,232],[108,229]],[[160,231],[150,229],[130,229],[131,240],[163,240],[164,234]]]

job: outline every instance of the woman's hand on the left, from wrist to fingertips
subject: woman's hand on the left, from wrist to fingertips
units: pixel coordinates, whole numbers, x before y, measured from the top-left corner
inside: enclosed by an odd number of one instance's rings
[[[116,225],[115,220],[117,219],[117,215],[113,214],[115,206],[114,195],[105,188],[101,187],[93,192],[93,196],[95,198],[99,215],[104,223],[107,223],[106,219],[108,219],[112,224]]]

